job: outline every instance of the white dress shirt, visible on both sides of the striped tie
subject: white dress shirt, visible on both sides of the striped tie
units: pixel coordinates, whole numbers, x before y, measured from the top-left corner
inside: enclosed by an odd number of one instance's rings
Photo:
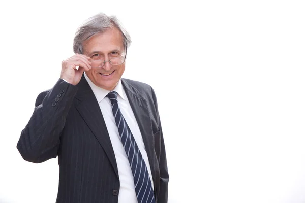
[[[118,134],[118,129],[111,109],[111,102],[109,98],[106,97],[110,91],[96,86],[85,73],[84,76],[88,84],[90,85],[94,95],[97,98],[97,101],[99,103],[99,106],[103,114],[103,118],[107,126],[111,144],[114,150],[114,155],[118,169],[119,183],[120,183],[120,188],[118,193],[118,203],[122,203],[122,202],[137,203],[138,200],[135,192],[135,184],[133,180],[133,174],[131,171],[130,163],[128,161],[124,146]],[[135,138],[135,141],[139,147],[139,150],[147,166],[151,183],[154,186],[153,178],[151,177],[151,170],[148,162],[147,153],[145,151],[145,146],[143,143],[143,138],[141,136],[141,132],[138,123],[136,121],[136,118],[134,116],[134,113],[129,104],[127,95],[121,84],[121,80],[119,80],[118,84],[116,85],[113,91],[116,91],[118,93],[117,101],[118,101],[119,109],[123,114]]]

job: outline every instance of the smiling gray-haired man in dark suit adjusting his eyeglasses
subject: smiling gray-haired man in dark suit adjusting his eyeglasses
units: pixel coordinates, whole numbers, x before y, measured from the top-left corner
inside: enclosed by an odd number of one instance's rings
[[[58,156],[58,203],[167,202],[154,90],[121,78],[130,43],[115,17],[89,18],[76,32],[75,55],[62,62],[53,88],[38,95],[21,132],[24,160]]]

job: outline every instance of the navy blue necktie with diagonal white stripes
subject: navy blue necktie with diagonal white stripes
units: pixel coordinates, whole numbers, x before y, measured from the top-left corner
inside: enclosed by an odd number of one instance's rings
[[[145,161],[126,120],[119,110],[117,92],[110,92],[108,98],[111,101],[112,112],[118,128],[118,133],[131,166],[138,203],[155,203],[154,190],[151,185]]]

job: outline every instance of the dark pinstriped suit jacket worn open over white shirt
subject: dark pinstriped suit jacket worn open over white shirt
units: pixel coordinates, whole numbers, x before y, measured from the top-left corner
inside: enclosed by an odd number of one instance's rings
[[[121,82],[142,133],[156,202],[167,202],[169,176],[154,90],[128,79]],[[76,86],[59,79],[52,89],[39,94],[17,148],[24,160],[34,163],[58,156],[57,203],[118,201],[113,148],[99,104],[84,76]]]

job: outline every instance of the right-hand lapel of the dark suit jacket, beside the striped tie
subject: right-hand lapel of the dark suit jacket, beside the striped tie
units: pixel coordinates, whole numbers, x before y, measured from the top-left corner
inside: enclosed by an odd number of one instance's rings
[[[125,93],[128,97],[130,106],[136,117],[139,125],[145,150],[148,156],[151,174],[153,174],[154,183],[156,183],[155,165],[154,165],[154,139],[153,139],[153,127],[151,124],[150,113],[146,99],[140,94],[140,92],[131,86],[127,80],[121,79]]]

